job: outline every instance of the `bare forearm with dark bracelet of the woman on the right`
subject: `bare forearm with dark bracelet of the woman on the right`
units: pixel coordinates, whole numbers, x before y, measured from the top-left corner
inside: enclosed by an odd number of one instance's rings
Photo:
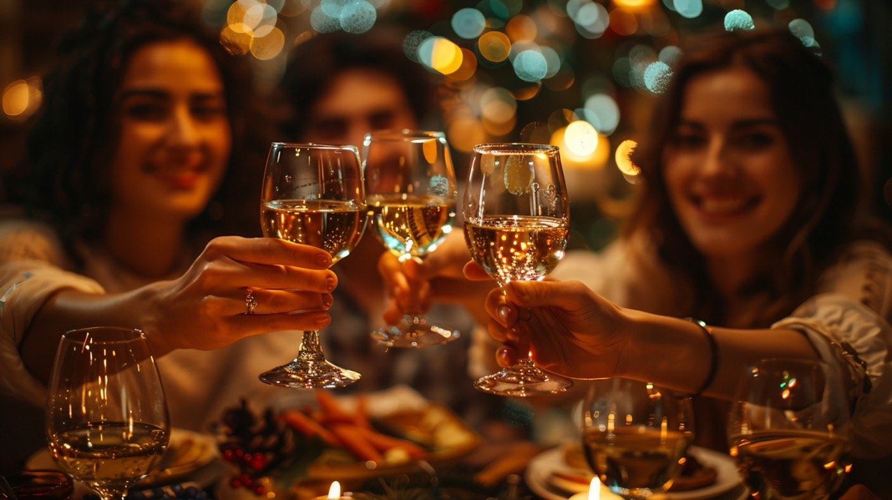
[[[814,348],[792,329],[708,327],[716,343],[715,360],[706,337],[692,321],[626,310],[634,333],[622,354],[625,377],[652,381],[682,393],[698,391],[716,362],[708,396],[732,399],[748,366],[764,358],[817,359]]]

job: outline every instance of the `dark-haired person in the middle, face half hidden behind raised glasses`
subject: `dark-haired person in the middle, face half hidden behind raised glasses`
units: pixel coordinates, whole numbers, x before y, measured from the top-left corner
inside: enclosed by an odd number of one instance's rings
[[[368,132],[382,129],[439,129],[438,82],[403,53],[401,31],[376,26],[355,35],[317,35],[294,47],[277,87],[276,109],[285,140],[351,144],[362,151]],[[322,332],[326,354],[359,371],[350,390],[373,391],[406,384],[450,406],[470,424],[491,418],[493,404],[479,395],[464,370],[472,321],[455,306],[435,305],[432,321],[457,328],[462,337],[445,346],[386,350],[369,337],[384,325],[383,280],[376,271],[384,245],[374,229],[351,255],[338,262],[340,286],[332,306],[334,321]]]

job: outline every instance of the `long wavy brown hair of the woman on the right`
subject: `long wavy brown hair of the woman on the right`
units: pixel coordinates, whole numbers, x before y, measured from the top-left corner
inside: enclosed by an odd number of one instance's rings
[[[863,233],[863,171],[834,95],[830,68],[788,30],[717,33],[693,47],[674,68],[652,127],[633,154],[642,186],[624,236],[654,242],[660,263],[690,286],[693,296],[684,306],[690,310],[678,311],[680,316],[727,324],[730,312],[709,279],[705,258],[681,229],[669,202],[663,146],[673,140],[691,79],[734,66],[753,71],[768,87],[804,183],[794,212],[769,242],[771,261],[740,290],[754,306],[743,317],[735,312],[732,326],[766,327],[812,295],[819,274],[847,242]]]

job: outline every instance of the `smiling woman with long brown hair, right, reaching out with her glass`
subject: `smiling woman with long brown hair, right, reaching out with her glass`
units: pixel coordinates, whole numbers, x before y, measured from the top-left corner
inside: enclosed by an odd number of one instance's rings
[[[726,451],[729,400],[747,365],[822,359],[856,403],[852,481],[892,495],[874,473],[892,454],[890,232],[863,206],[827,65],[785,29],[701,40],[640,137],[638,204],[622,237],[599,254],[567,254],[553,279],[475,295],[503,343],[499,364],[532,349],[567,377],[695,395],[697,443]],[[446,278],[467,249],[450,243],[412,277],[461,286]],[[489,279],[473,262],[464,274]],[[395,276],[396,294],[412,293]]]

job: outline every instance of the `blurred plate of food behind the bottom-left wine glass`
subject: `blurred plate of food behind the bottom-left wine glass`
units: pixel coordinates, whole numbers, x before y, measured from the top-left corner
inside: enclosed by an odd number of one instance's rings
[[[58,469],[46,448],[32,454],[27,469]],[[186,429],[171,429],[167,451],[158,466],[136,483],[136,488],[155,487],[188,480],[200,487],[213,484],[224,468],[219,461],[217,441],[207,434]]]

